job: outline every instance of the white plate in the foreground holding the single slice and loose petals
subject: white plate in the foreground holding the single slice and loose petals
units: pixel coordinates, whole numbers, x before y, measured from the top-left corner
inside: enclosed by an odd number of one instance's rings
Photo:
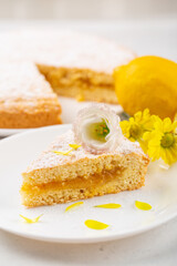
[[[64,213],[70,204],[27,209],[19,195],[21,172],[25,170],[53,139],[71,125],[56,125],[17,134],[0,141],[0,228],[30,238],[60,243],[93,243],[123,238],[148,231],[177,215],[177,165],[168,171],[150,164],[146,185],[137,191],[123,192],[84,201],[77,209]],[[153,209],[135,207],[135,201],[147,202]],[[118,203],[118,209],[94,208],[94,205]],[[41,222],[25,224],[19,216],[35,217]],[[85,219],[111,225],[103,231],[90,229]]]

